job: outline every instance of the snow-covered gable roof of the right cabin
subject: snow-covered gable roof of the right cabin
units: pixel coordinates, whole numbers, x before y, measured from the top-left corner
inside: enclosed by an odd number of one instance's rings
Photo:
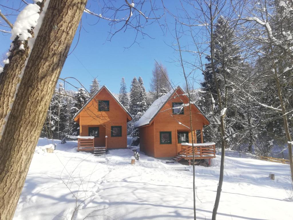
[[[156,99],[153,102],[153,104],[151,104],[151,106],[147,109],[147,111],[142,115],[142,117],[134,124],[134,128],[140,128],[142,126],[149,125],[154,120],[156,115],[161,111],[163,106],[165,106],[167,101],[169,101],[169,99],[175,94],[175,92],[178,89],[181,89],[184,92],[184,90],[180,86],[177,86],[176,88],[173,89],[173,91],[170,91],[166,95],[163,95],[159,99]],[[200,111],[200,113],[205,117],[205,119],[207,119],[207,121],[210,122],[207,116],[205,116],[205,114],[203,114],[203,112],[200,110],[200,108],[195,103],[194,105]]]

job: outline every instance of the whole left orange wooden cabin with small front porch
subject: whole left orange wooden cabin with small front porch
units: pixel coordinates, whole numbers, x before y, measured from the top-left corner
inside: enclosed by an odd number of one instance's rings
[[[78,151],[104,154],[107,149],[127,148],[126,123],[132,120],[125,107],[106,86],[76,113],[79,123]]]

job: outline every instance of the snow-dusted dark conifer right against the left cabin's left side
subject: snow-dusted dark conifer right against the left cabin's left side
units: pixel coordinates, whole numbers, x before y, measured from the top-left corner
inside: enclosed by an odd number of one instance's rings
[[[70,109],[70,118],[71,118],[71,135],[78,136],[79,135],[79,124],[74,121],[74,115],[86,104],[86,102],[90,99],[88,93],[84,91],[83,88],[79,88],[77,92],[74,94],[74,106]]]

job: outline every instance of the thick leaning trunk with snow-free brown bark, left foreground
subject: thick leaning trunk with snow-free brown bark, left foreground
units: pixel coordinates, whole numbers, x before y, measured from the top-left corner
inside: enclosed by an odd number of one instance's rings
[[[85,4],[86,0],[50,0],[0,137],[2,219],[13,218],[47,108]],[[23,65],[19,66],[13,57],[9,66],[23,71]],[[12,80],[13,76],[1,81],[1,87],[4,83],[5,86],[13,84]],[[5,102],[1,96],[1,105]]]

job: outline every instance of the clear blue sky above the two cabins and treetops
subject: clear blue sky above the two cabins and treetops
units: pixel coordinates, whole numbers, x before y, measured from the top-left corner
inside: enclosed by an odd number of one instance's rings
[[[173,1],[172,1],[173,2]],[[170,3],[169,6],[173,6]],[[9,3],[5,4],[9,5]],[[1,6],[0,6],[1,7]],[[3,11],[3,8],[2,12]],[[14,22],[16,16],[11,17]],[[155,60],[161,62],[168,71],[169,78],[176,85],[183,85],[184,78],[182,68],[173,60],[178,60],[178,54],[170,45],[174,38],[170,32],[163,33],[157,23],[153,23],[145,28],[145,32],[152,38],[139,35],[138,44],[132,45],[129,49],[125,47],[133,43],[135,32],[127,30],[119,32],[112,41],[108,39],[110,26],[107,21],[100,20],[97,24],[97,17],[84,13],[79,42],[71,55],[67,57],[62,69],[61,78],[75,77],[86,88],[89,88],[93,77],[97,77],[100,84],[105,84],[112,92],[118,93],[120,80],[125,77],[129,90],[131,80],[134,76],[142,76],[145,87],[149,90],[151,73],[154,68]],[[169,28],[172,29],[174,21],[168,21]],[[94,25],[93,25],[94,24]],[[79,30],[79,28],[78,28]],[[78,31],[71,45],[70,51],[76,45]],[[11,43],[10,35],[0,33],[0,55],[8,51]],[[192,60],[192,56],[188,55]],[[201,75],[199,75],[199,79]],[[70,80],[72,84],[80,87],[78,82]],[[198,86],[198,85],[197,85]],[[67,87],[72,89],[72,87]]]

